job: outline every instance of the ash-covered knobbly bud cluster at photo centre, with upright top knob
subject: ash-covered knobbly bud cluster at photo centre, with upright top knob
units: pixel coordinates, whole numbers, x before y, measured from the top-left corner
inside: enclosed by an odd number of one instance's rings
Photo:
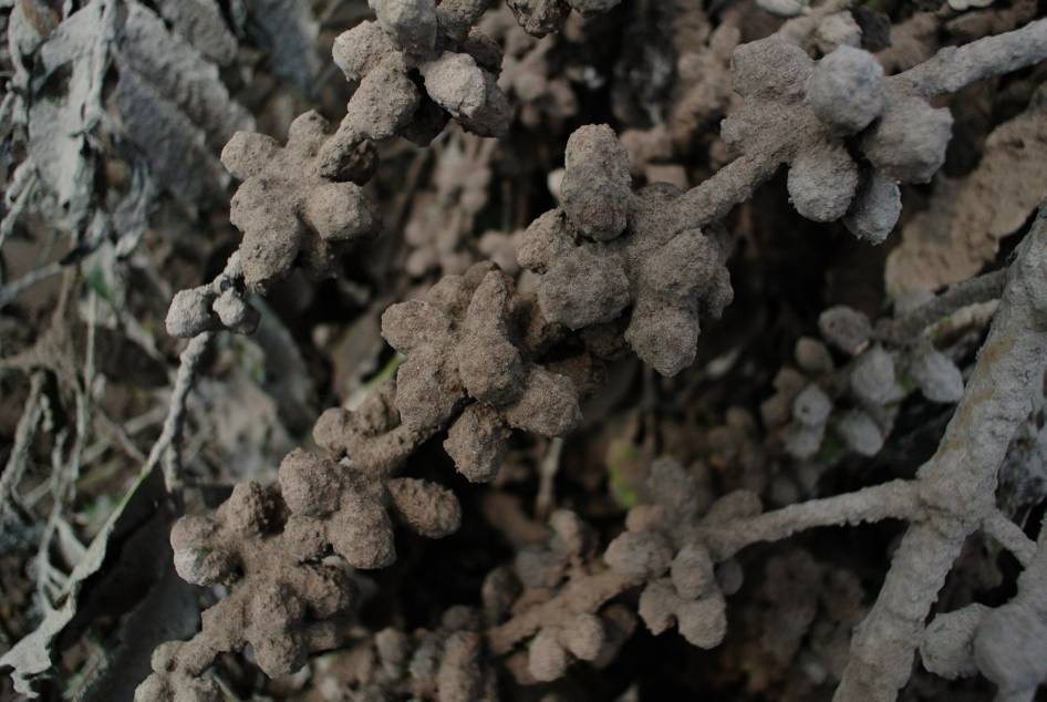
[[[600,127],[582,130],[564,182],[622,182],[624,162],[619,156],[598,158],[591,148],[581,148],[610,135]],[[680,193],[667,184],[626,198],[628,226],[620,236],[588,240],[581,235],[588,225],[577,217],[593,211],[601,193],[600,211],[613,216],[601,215],[600,220],[616,221],[622,203],[615,192],[587,192],[584,207],[566,203],[563,209],[536,219],[524,234],[517,260],[539,273],[538,300],[549,321],[583,329],[620,317],[631,302],[625,341],[645,363],[674,375],[694,362],[699,319],[719,317],[732,300],[725,252],[701,230],[681,228],[673,210]]]

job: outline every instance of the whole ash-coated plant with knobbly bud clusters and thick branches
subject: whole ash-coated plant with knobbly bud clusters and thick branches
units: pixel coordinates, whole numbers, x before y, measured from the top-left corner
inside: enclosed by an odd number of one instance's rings
[[[307,112],[282,145],[256,133],[232,136],[222,163],[241,182],[230,208],[239,248],[212,282],[175,296],[172,334],[195,343],[221,329],[250,333],[258,316],[248,293],[272,290],[296,269],[336,273],[341,257],[382,228],[365,192],[381,144],[405,137],[424,146],[452,120],[478,136],[506,135],[501,49],[477,30],[488,4],[371,0],[376,19],[334,43],[335,63],[354,87],[339,125]],[[571,10],[584,17],[615,4],[508,2],[533,34],[558,29]],[[433,476],[418,477],[429,466],[412,461],[431,440],[468,481],[496,481],[514,433],[569,436],[622,359],[681,374],[696,360],[701,332],[733,301],[724,224],[732,208],[785,166],[799,215],[841,221],[858,239],[881,244],[901,214],[900,184],[930,180],[945,161],[953,118],[936,99],[1047,59],[1047,20],[942,50],[891,76],[875,55],[846,42],[812,58],[801,29],[786,23],[757,41],[740,43],[735,32],[717,40],[711,62],[737,44],[730,80],[740,102],[721,131],[734,158],[696,187],[635,188],[639,164],[614,130],[581,126],[566,144],[559,206],[519,236],[522,272],[477,262],[385,308],[380,327],[398,353],[395,378],[352,409],[324,412],[317,448],[289,453],[276,484],[240,484],[216,510],[175,525],[178,574],[220,586],[221,597],[198,634],[157,649],[137,700],[221,699],[209,671],[228,652],[249,651],[262,672],[280,677],[351,644],[373,663],[356,675],[355,699],[450,702],[496,699],[502,673],[532,685],[554,683],[572,665],[609,665],[640,622],[713,649],[729,636],[745,548],[882,520],[908,530],[875,602],[842,637],[850,653],[831,667],[835,699],[896,699],[918,646],[932,672],[982,672],[999,700],[1035,694],[1045,672],[1044,539],[1030,541],[996,507],[995,486],[1047,359],[1044,211],[1006,270],[979,289],[1001,300],[966,381],[956,359],[924,334],[955,307],[945,293],[911,319],[883,324],[850,308],[828,310],[819,331],[846,361],[838,365],[821,341],[801,340],[798,369],[779,374],[778,394],[764,405],[787,452],[809,458],[830,431],[856,453],[877,454],[899,402],[916,388],[927,400],[955,403],[937,451],[915,476],[765,509],[753,492],[717,494],[680,463],[656,461],[623,524],[601,534],[576,512],[552,512],[546,538],[493,570],[476,607],[449,608],[429,629],[371,636],[350,626],[360,599],[353,571],[396,561],[397,525],[410,533],[401,538],[434,539],[462,525],[459,498]],[[976,531],[1025,568],[1018,593],[992,611],[972,605],[927,626]],[[848,611],[837,623],[856,618]],[[1004,651],[1016,640],[1028,654],[1012,659]]]

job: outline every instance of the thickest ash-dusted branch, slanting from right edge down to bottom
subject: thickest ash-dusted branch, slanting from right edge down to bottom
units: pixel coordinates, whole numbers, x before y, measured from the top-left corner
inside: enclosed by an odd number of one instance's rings
[[[906,531],[857,629],[837,702],[889,702],[964,539],[995,509],[996,473],[1047,362],[1047,208],[1010,267],[992,331],[934,456],[918,474],[924,518]]]

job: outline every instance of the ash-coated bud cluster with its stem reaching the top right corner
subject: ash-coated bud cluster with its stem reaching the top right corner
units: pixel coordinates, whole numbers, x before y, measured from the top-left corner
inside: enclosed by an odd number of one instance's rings
[[[1029,39],[993,40],[943,51],[890,79],[878,72],[874,59],[853,48],[840,47],[816,64],[777,34],[738,47],[732,74],[745,101],[724,121],[721,134],[740,156],[688,192],[680,216],[697,225],[722,218],[787,164],[789,193],[800,214],[828,221],[852,210],[859,236],[882,240],[896,220],[894,193],[883,180],[922,183],[944,162],[952,117],[926,97],[964,84],[947,78],[952,74],[976,80],[1014,62],[1037,60]],[[850,145],[872,165],[864,177],[846,148],[851,136],[858,138]],[[852,205],[859,180],[878,187]]]

